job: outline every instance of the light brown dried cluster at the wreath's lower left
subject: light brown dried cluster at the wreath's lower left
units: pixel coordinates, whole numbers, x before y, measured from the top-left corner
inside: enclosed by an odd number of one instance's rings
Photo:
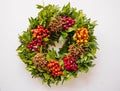
[[[36,67],[43,69],[43,70],[48,70],[47,68],[47,61],[45,58],[45,55],[42,53],[37,53],[34,57],[33,57],[33,63]]]

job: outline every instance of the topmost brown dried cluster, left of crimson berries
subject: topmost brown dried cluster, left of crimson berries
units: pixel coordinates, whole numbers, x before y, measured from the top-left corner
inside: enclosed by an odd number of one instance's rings
[[[61,32],[62,31],[62,17],[56,16],[55,20],[52,20],[49,24],[49,29],[51,32]]]

